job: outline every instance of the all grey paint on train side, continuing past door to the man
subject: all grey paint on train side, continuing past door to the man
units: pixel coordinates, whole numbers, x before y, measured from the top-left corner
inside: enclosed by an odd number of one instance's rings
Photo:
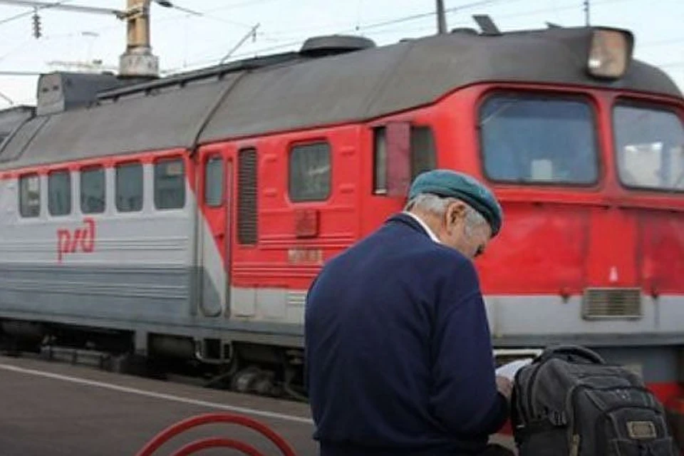
[[[0,180],[0,318],[133,331],[143,339],[160,333],[302,346],[301,292],[230,291],[188,181],[184,207],[159,210],[153,173],[152,165],[142,166],[142,209],[123,213],[116,209],[115,169],[105,168],[105,212],[83,214],[81,182],[71,172],[72,211],[65,216],[49,214],[43,175],[40,212],[28,218],[19,213],[19,180]],[[58,232],[86,229],[87,220],[92,251],[61,252]],[[232,316],[230,295],[259,304],[249,316]]]

